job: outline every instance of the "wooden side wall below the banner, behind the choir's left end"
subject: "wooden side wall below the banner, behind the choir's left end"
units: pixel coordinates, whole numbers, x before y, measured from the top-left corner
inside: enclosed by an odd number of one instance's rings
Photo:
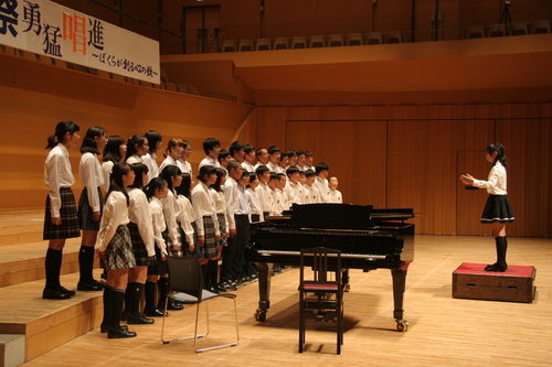
[[[252,106],[139,87],[94,75],[0,54],[0,209],[44,206],[44,150],[61,120],[73,120],[84,137],[91,126],[128,139],[153,129],[170,138],[189,140],[197,164],[201,143],[215,137],[227,145]],[[79,147],[70,150],[74,192],[79,196]],[[159,152],[158,162],[163,160]]]

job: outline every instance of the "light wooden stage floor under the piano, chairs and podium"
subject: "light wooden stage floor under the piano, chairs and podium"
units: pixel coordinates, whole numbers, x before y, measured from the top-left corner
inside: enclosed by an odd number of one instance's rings
[[[488,263],[493,258],[490,237],[416,236],[415,260],[406,278],[405,333],[395,330],[392,317],[390,271],[352,270],[341,355],[335,354],[331,323],[310,327],[307,350],[297,352],[298,269],[291,269],[273,278],[272,306],[263,323],[253,316],[257,284],[237,290],[237,347],[194,354],[190,341],[163,345],[157,320],[155,325],[130,325],[138,333],[130,339],[107,339],[94,330],[25,366],[550,366],[552,239],[509,239],[509,263],[537,268],[532,303],[452,298],[452,273],[461,262]],[[198,342],[201,347],[235,335],[230,301],[210,304],[212,330]],[[192,334],[193,317],[191,306],[171,312],[169,332]]]

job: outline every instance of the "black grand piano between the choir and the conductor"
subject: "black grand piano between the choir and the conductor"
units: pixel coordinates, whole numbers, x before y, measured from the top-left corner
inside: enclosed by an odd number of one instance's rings
[[[412,209],[374,209],[371,205],[294,204],[291,214],[269,217],[251,225],[246,261],[258,270],[257,321],[265,321],[270,306],[274,263],[298,266],[300,250],[328,247],[341,251],[343,269],[390,269],[393,278],[393,316],[396,328],[405,332],[403,295],[408,265],[414,259]],[[348,284],[348,271],[343,282]],[[348,287],[346,287],[348,290]]]

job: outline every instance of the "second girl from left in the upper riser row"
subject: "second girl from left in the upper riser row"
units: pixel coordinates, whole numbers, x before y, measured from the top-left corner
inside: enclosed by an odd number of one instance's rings
[[[94,245],[99,230],[99,219],[104,207],[102,186],[104,185],[104,172],[97,159],[100,151],[107,145],[107,132],[104,128],[93,126],[86,130],[86,136],[81,145],[79,175],[84,186],[78,201],[78,223],[83,230],[83,241],[78,251],[78,267],[81,278],[77,290],[100,291],[103,284],[93,277],[94,269]]]

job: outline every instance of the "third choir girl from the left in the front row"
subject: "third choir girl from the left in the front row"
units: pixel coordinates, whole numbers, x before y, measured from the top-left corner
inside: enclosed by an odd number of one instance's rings
[[[167,268],[167,244],[164,242],[162,233],[167,228],[163,216],[163,204],[161,199],[167,198],[169,194],[169,185],[162,177],[152,179],[144,188],[146,196],[149,199],[151,220],[153,226],[153,237],[156,239],[156,262],[148,267],[148,281],[145,285],[146,306],[144,313],[150,317],[162,317],[164,304],[161,307],[156,305],[157,281],[159,276],[168,277]],[[167,293],[161,293],[160,300],[164,300]]]

